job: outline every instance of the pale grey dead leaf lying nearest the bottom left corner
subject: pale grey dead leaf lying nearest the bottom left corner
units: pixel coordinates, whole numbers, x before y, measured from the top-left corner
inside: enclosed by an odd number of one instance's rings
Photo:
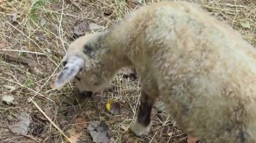
[[[27,134],[30,126],[30,116],[27,113],[20,113],[19,122],[9,126],[9,130],[15,134]]]

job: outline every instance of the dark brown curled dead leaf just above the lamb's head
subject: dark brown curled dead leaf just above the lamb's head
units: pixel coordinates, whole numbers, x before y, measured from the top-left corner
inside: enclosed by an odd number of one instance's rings
[[[73,34],[75,38],[78,38],[79,36],[84,36],[84,34],[86,34],[86,32],[88,32],[89,29],[90,26],[86,19],[82,21],[76,21],[73,29]]]

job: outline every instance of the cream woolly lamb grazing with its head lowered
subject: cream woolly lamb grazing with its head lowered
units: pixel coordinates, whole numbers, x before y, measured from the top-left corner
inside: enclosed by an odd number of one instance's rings
[[[55,86],[81,93],[106,87],[135,67],[141,104],[131,131],[150,131],[161,96],[184,132],[202,142],[256,142],[256,50],[241,34],[185,1],[143,6],[106,32],[86,34],[63,58]]]

